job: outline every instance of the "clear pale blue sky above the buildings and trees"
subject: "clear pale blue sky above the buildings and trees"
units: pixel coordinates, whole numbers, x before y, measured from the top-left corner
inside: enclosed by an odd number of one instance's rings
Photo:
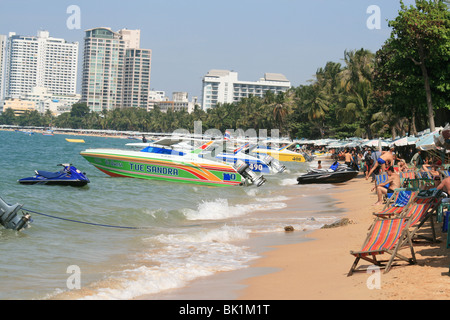
[[[72,5],[79,15],[67,12]],[[292,86],[308,84],[328,61],[344,64],[345,50],[380,49],[399,9],[400,0],[0,0],[0,34],[47,30],[79,42],[80,93],[85,30],[140,29],[141,48],[152,50],[151,88],[201,99],[211,69],[242,81],[281,73]]]

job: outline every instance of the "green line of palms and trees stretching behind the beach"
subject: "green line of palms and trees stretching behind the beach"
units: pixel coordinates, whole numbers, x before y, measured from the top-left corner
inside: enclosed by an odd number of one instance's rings
[[[262,98],[249,96],[236,103],[203,111],[147,112],[118,108],[90,112],[75,104],[53,117],[36,111],[14,117],[10,109],[0,124],[111,129],[140,132],[194,130],[279,129],[292,138],[395,137],[415,134],[450,121],[450,14],[444,1],[402,1],[398,16],[389,21],[391,36],[375,53],[346,50],[340,62],[317,69],[308,85],[292,87]]]

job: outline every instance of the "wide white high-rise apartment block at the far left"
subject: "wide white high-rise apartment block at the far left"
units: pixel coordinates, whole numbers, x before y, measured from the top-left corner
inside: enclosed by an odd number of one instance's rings
[[[38,31],[37,36],[11,32],[3,47],[3,98],[22,97],[33,87],[44,87],[58,95],[76,93],[78,42],[52,38],[48,31]]]

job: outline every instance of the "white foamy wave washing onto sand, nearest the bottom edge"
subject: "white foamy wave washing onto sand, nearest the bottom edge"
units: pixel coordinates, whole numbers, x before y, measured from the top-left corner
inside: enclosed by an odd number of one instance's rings
[[[257,256],[231,242],[247,237],[247,232],[239,227],[223,226],[207,232],[149,238],[163,246],[148,253],[147,263],[124,271],[120,281],[83,299],[132,299],[181,288],[217,272],[244,268]]]

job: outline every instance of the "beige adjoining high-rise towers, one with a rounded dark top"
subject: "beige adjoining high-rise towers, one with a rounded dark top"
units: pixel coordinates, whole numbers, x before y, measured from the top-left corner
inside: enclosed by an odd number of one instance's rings
[[[140,31],[86,30],[82,99],[92,111],[147,108],[151,50],[140,49]]]

